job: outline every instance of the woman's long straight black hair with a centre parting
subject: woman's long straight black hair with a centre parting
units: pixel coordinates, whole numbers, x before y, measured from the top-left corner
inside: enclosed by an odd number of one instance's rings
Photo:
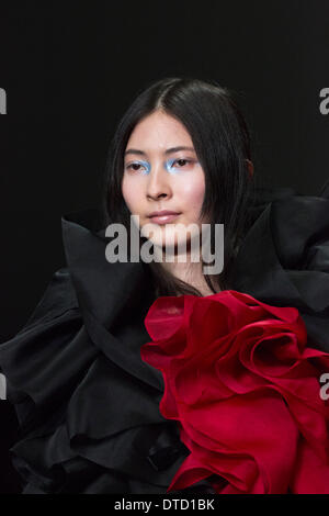
[[[136,124],[156,110],[178,119],[191,135],[205,173],[205,197],[200,216],[207,215],[211,224],[224,224],[224,269],[219,274],[205,274],[205,280],[213,292],[218,288],[229,289],[231,266],[249,225],[248,207],[254,188],[247,161],[252,159],[246,120],[234,93],[215,80],[169,77],[138,92],[110,145],[102,200],[104,224],[116,222],[129,227],[131,212],[122,194],[124,153]],[[211,233],[213,238],[214,232]],[[149,266],[157,295],[201,295],[198,290],[166,271],[161,263],[152,261]]]

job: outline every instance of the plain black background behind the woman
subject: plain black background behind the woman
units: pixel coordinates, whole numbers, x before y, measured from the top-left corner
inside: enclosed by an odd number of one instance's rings
[[[180,75],[237,93],[260,184],[319,194],[329,179],[327,0],[1,2],[1,341],[65,263],[61,215],[100,202],[123,112],[149,81]],[[0,412],[0,492],[19,492],[8,452],[15,416],[5,401]]]

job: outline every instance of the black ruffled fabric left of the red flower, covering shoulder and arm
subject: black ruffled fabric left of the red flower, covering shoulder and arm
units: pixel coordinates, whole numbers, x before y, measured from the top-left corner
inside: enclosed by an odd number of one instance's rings
[[[188,450],[159,412],[161,374],[139,355],[150,276],[141,262],[109,263],[98,212],[79,214],[83,225],[76,215],[63,217],[68,267],[0,346],[21,426],[13,464],[23,493],[166,493]]]

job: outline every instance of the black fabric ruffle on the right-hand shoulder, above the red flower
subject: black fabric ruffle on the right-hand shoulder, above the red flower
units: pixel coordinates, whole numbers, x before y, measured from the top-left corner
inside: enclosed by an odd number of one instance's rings
[[[279,195],[262,207],[239,249],[231,289],[295,306],[309,345],[329,352],[328,188],[321,197]]]

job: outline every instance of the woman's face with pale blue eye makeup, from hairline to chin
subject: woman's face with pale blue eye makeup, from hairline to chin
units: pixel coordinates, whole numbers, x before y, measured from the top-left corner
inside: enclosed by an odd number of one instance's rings
[[[125,150],[122,192],[131,213],[139,215],[141,233],[146,224],[151,224],[149,239],[157,246],[186,240],[186,233],[175,227],[179,223],[194,223],[201,228],[207,222],[200,220],[204,171],[180,121],[156,111],[135,126]],[[178,215],[170,220],[150,217],[152,212],[162,210]]]

